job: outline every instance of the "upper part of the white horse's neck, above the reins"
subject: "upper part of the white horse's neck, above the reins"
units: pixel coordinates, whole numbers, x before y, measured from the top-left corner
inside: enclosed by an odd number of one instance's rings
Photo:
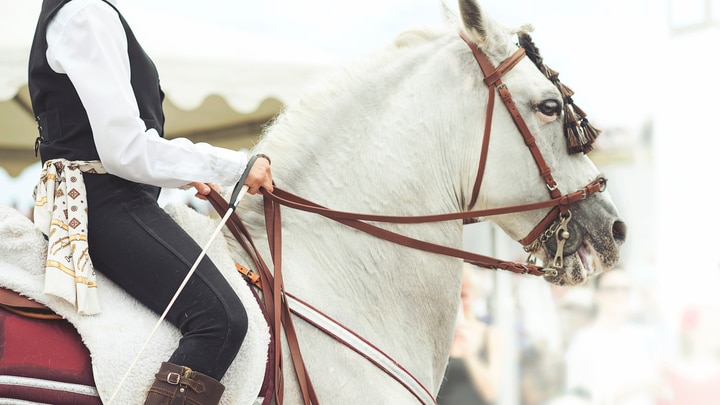
[[[477,164],[457,159],[467,143],[448,139],[463,120],[439,111],[457,102],[439,96],[453,93],[443,88],[452,72],[438,69],[445,42],[358,62],[281,114],[257,147],[279,162],[278,185],[338,210],[464,209],[460,194],[474,176],[458,173],[474,174]]]

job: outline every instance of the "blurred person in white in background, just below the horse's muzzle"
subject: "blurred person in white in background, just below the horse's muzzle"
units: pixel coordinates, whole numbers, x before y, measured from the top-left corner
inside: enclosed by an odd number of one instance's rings
[[[596,317],[578,330],[566,352],[566,390],[586,393],[593,405],[655,405],[659,393],[656,336],[633,321],[631,275],[598,275]]]

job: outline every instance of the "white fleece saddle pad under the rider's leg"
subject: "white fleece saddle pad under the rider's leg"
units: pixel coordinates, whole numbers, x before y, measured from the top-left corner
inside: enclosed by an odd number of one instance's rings
[[[205,246],[219,222],[180,204],[168,205],[165,210],[200,246]],[[75,326],[90,350],[98,393],[107,404],[159,317],[100,272],[102,313],[78,315],[64,300],[43,293],[46,249],[45,238],[29,219],[13,208],[0,205],[0,285],[47,305]],[[250,287],[235,270],[222,236],[212,244],[208,256],[245,304],[249,322],[242,348],[221,381],[226,390],[220,403],[259,403],[270,341],[267,323]],[[174,326],[163,322],[127,374],[113,404],[142,403],[160,363],[170,357],[180,337]]]

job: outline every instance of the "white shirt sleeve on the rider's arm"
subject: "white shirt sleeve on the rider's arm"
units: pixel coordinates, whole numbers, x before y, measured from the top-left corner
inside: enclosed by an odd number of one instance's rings
[[[87,111],[100,160],[108,173],[159,187],[190,182],[233,185],[245,153],[160,137],[140,119],[130,84],[127,38],[118,14],[98,0],[75,0],[48,26],[47,59],[72,81]]]

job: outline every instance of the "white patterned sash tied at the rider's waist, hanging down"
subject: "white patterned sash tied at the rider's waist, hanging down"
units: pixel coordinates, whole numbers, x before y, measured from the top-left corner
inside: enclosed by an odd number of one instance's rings
[[[45,293],[100,313],[95,269],[87,243],[87,197],[82,173],[105,174],[99,160],[45,162],[35,186],[35,227],[48,236]]]

